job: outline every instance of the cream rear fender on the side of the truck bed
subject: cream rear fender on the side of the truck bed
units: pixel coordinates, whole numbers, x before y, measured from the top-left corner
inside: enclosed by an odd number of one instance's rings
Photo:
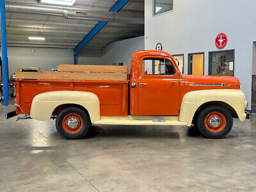
[[[54,109],[62,104],[83,106],[88,111],[92,123],[100,119],[100,102],[97,95],[76,91],[45,92],[36,95],[31,106],[31,118],[48,121]]]

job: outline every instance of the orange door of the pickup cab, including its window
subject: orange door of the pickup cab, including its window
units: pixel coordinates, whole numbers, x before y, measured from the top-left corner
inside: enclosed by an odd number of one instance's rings
[[[179,74],[165,56],[140,59],[138,115],[179,115]]]

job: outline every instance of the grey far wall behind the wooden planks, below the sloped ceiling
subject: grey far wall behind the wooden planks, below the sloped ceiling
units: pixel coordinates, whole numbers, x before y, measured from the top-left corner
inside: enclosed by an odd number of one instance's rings
[[[135,51],[144,49],[144,36],[109,44],[103,50],[88,50],[77,54],[77,64],[112,65],[124,63],[131,65],[131,56]],[[31,52],[31,51],[34,52]],[[73,53],[69,49],[41,47],[8,47],[9,75],[16,67],[41,67],[42,70],[57,68],[60,64],[73,64]]]

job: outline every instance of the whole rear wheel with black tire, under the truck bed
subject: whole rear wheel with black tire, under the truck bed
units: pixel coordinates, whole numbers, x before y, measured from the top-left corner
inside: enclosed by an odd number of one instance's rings
[[[90,129],[90,119],[82,109],[66,108],[56,118],[56,129],[67,139],[81,139]]]

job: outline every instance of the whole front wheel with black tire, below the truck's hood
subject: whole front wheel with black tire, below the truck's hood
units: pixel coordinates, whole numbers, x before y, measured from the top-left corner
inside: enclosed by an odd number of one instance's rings
[[[198,115],[197,127],[206,138],[220,139],[231,131],[233,118],[226,108],[209,106]]]

